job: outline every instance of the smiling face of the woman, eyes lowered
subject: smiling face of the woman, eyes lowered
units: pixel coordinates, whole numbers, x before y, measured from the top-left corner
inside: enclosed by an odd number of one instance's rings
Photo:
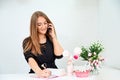
[[[39,34],[46,34],[48,23],[46,19],[42,16],[37,19],[37,31]]]

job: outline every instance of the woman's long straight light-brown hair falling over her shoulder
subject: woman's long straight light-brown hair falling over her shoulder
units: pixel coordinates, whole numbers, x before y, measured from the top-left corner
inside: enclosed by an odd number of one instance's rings
[[[36,11],[33,13],[31,16],[31,21],[30,21],[30,36],[25,38],[23,41],[23,50],[24,53],[26,51],[32,51],[33,54],[42,54],[40,50],[40,44],[39,44],[39,37],[38,37],[38,32],[37,32],[37,19],[39,16],[42,16],[46,19],[47,23],[52,23],[50,19],[47,17],[47,15],[41,11]],[[51,36],[46,33],[46,36],[48,36],[51,40]]]

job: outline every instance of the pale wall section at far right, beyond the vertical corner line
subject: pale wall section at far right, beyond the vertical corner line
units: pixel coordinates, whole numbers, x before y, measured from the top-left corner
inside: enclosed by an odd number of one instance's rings
[[[99,37],[104,41],[106,64],[120,69],[120,0],[99,0]]]

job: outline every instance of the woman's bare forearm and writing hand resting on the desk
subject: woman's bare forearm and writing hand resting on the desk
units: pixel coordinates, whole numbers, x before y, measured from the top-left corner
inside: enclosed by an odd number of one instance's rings
[[[49,70],[41,70],[33,58],[28,59],[28,64],[38,77],[49,77],[51,75],[51,72]]]

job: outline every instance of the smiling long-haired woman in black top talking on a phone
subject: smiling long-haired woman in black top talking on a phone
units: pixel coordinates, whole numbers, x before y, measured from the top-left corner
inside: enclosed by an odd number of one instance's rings
[[[47,15],[36,11],[31,16],[30,36],[23,41],[25,59],[30,65],[29,73],[49,77],[47,68],[57,68],[56,58],[62,58],[63,48],[57,40],[55,27]]]

